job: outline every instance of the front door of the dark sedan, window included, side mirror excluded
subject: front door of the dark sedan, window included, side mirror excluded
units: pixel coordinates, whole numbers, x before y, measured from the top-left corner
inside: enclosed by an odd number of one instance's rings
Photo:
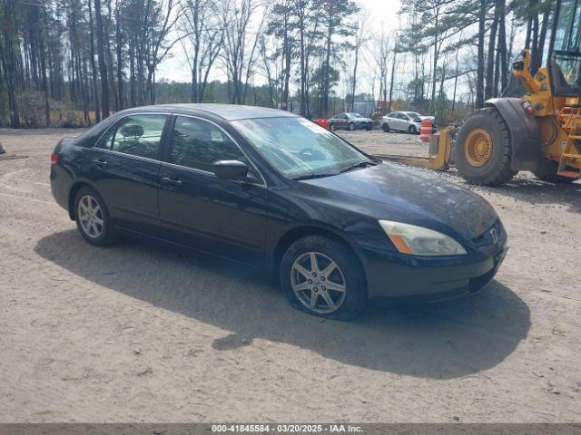
[[[211,121],[176,115],[160,169],[160,219],[167,237],[222,256],[262,258],[266,186],[241,148]],[[240,160],[249,179],[220,179],[218,160]]]

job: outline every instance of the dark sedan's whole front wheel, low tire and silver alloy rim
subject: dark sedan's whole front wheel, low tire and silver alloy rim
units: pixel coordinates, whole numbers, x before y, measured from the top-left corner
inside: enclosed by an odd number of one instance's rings
[[[315,267],[312,256],[316,258]],[[304,313],[349,320],[359,315],[368,302],[359,258],[331,237],[307,236],[296,240],[282,256],[279,275],[289,302]],[[329,288],[331,285],[333,289]],[[343,291],[339,290],[341,286]]]

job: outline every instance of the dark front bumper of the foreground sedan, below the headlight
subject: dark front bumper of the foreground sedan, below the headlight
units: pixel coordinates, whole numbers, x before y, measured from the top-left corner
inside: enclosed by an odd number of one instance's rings
[[[462,259],[418,259],[412,264],[367,256],[368,294],[373,297],[419,297],[438,300],[478,292],[496,275],[507,254],[506,241],[473,263]]]

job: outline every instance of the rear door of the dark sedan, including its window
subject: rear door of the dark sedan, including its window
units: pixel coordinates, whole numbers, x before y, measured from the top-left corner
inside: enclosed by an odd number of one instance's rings
[[[89,151],[90,174],[117,225],[141,232],[159,226],[157,183],[168,114],[124,116]]]

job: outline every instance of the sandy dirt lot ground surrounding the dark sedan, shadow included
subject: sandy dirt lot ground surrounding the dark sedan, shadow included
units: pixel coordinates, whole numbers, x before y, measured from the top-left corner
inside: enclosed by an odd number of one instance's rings
[[[78,132],[0,131],[27,156],[0,160],[0,421],[581,421],[581,183],[471,188],[509,234],[496,279],[340,323],[227,261],[86,244],[48,184],[54,144]]]

